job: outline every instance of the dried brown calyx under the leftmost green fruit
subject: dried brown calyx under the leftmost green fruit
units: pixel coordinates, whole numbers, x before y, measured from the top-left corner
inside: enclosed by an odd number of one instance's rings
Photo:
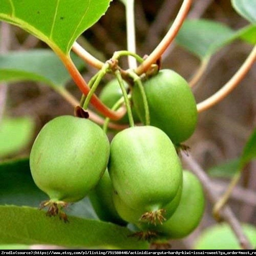
[[[46,200],[41,202],[39,209],[42,210],[44,207],[48,207],[46,216],[59,216],[60,220],[69,222],[65,212],[61,211],[62,208],[67,207],[68,203],[64,201]]]

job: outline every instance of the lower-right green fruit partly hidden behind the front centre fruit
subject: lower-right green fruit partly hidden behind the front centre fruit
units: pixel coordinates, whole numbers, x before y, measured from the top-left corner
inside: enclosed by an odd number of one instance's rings
[[[162,225],[151,227],[166,239],[179,239],[189,235],[199,224],[204,212],[204,193],[198,178],[183,172],[180,203],[172,217]]]

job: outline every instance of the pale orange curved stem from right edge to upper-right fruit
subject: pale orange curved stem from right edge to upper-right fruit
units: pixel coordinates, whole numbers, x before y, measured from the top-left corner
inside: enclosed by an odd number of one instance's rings
[[[251,66],[256,60],[256,45],[253,47],[251,53],[241,65],[240,69],[234,74],[231,79],[215,94],[208,99],[197,104],[197,111],[202,112],[222,101],[236,86],[241,82],[244,76],[248,73]]]

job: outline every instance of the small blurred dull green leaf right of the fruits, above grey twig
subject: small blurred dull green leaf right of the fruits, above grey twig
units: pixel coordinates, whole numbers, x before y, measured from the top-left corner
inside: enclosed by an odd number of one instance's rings
[[[240,158],[231,159],[225,163],[213,166],[207,173],[215,178],[231,178],[239,168]]]

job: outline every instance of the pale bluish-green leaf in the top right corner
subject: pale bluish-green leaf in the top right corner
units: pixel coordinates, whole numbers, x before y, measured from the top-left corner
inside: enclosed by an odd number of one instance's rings
[[[231,0],[233,8],[251,23],[256,23],[256,0]]]

